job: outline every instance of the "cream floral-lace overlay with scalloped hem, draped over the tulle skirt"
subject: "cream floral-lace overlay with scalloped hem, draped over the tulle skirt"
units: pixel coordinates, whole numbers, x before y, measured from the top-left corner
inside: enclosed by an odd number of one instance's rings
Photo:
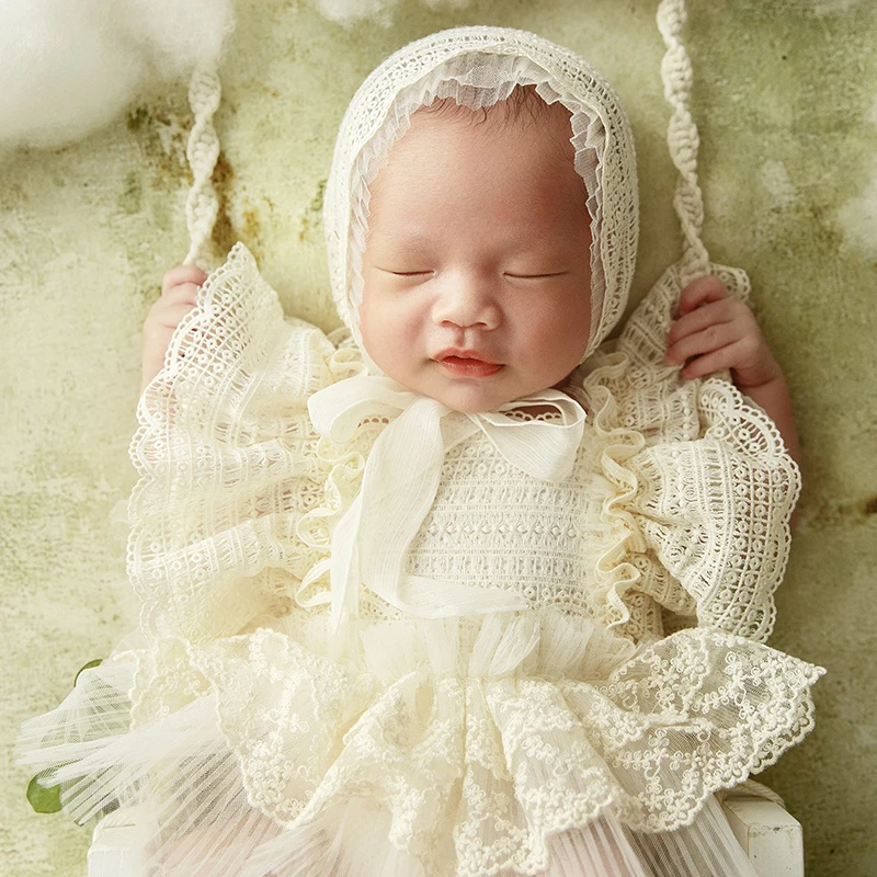
[[[166,645],[153,715],[186,681],[189,734],[217,710],[252,807],[293,828],[367,798],[425,874],[535,874],[553,833],[610,806],[679,828],[812,724],[817,669],[706,628],[637,648],[557,611],[376,622],[337,660],[324,638],[311,619]]]

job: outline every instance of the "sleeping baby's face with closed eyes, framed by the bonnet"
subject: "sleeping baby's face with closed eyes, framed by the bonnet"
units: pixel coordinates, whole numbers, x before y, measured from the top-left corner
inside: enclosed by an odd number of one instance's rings
[[[584,355],[590,221],[568,115],[469,112],[415,113],[372,185],[360,322],[386,375],[477,412],[555,386]]]

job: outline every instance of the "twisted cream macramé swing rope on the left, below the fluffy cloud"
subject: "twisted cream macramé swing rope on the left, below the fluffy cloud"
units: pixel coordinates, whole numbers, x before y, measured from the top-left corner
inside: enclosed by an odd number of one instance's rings
[[[189,135],[185,156],[192,168],[192,187],[185,201],[185,221],[189,227],[186,265],[207,269],[210,262],[210,235],[216,223],[219,202],[210,178],[219,158],[219,138],[213,116],[219,106],[221,88],[214,68],[196,68],[189,83],[189,104],[194,122]]]

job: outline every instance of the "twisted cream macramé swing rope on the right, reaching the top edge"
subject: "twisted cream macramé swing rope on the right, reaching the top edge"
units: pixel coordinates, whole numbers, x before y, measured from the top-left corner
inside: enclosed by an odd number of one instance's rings
[[[704,198],[697,185],[697,126],[688,103],[692,92],[692,65],[682,44],[682,29],[687,13],[685,0],[661,0],[658,5],[658,30],[667,53],[661,61],[664,98],[673,107],[667,129],[670,157],[679,170],[673,206],[682,226],[683,250],[680,282],[683,286],[709,273],[709,255],[701,240],[704,230]]]

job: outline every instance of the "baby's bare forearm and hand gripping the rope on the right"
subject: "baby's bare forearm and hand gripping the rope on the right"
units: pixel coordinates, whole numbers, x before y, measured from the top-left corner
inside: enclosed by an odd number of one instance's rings
[[[729,368],[738,389],[767,412],[791,458],[798,462],[798,436],[786,378],[755,316],[731,296],[718,277],[698,277],[682,291],[665,358],[673,364],[685,363],[682,376],[686,378]]]

